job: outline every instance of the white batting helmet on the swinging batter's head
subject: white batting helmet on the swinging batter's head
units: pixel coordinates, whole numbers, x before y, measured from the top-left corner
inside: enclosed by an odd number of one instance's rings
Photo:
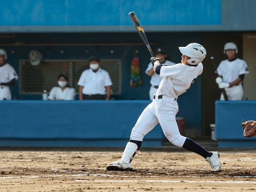
[[[197,65],[201,63],[206,57],[205,48],[199,43],[190,43],[186,47],[179,47],[181,53],[190,57],[188,63],[191,65]]]

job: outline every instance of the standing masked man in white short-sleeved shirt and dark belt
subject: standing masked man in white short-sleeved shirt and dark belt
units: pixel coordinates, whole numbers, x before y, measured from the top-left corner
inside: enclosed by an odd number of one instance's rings
[[[77,83],[79,100],[110,100],[112,81],[109,73],[100,67],[101,61],[98,57],[90,57],[89,64],[90,69],[82,72]]]

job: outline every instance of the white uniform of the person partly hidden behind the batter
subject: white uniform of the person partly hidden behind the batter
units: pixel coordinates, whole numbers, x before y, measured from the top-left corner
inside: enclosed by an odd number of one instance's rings
[[[165,60],[163,63],[161,63],[162,65],[167,65],[167,66],[172,66],[175,65],[176,63],[172,62],[172,61],[168,61]],[[152,68],[152,63],[150,62],[145,70],[145,73],[147,74],[147,72]],[[153,100],[154,94],[156,93],[156,90],[161,82],[162,78],[160,77],[160,75],[156,74],[155,72],[153,73],[153,75],[151,76],[150,79],[150,89],[149,89],[149,99]]]

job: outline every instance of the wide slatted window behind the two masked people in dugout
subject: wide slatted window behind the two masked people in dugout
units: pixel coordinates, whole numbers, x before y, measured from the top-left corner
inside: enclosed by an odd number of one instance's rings
[[[112,94],[121,94],[121,60],[102,59],[101,67],[110,74]],[[59,73],[69,74],[69,84],[79,91],[77,82],[83,70],[89,68],[88,60],[43,60],[33,66],[29,60],[20,60],[20,94],[42,94],[57,86]]]

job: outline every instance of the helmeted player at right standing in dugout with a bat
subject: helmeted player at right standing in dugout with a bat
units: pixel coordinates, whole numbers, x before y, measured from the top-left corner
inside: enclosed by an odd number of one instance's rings
[[[224,54],[228,59],[220,62],[217,73],[222,76],[216,78],[219,88],[225,88],[228,100],[242,100],[244,75],[249,73],[244,60],[236,57],[238,49],[235,43],[228,42],[224,46]],[[221,93],[220,100],[224,101]]]

